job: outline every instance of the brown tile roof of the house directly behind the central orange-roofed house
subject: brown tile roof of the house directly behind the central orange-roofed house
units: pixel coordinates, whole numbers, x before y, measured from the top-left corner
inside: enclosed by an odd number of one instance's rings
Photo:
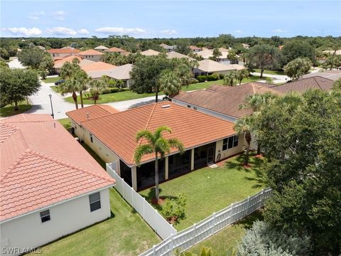
[[[251,110],[239,110],[239,105],[244,104],[245,97],[255,93],[273,92],[281,94],[267,87],[261,82],[249,82],[235,87],[224,85],[211,85],[206,90],[196,90],[193,92],[180,92],[173,97],[197,107],[203,107],[225,114],[229,117],[241,118],[246,114],[251,114]]]

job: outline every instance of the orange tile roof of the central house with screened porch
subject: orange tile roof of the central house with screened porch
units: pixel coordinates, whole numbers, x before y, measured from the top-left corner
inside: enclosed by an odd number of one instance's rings
[[[135,164],[134,151],[139,144],[135,139],[136,132],[141,129],[153,132],[162,125],[172,129],[171,134],[165,132],[163,135],[166,138],[180,139],[186,149],[236,134],[232,122],[172,102],[153,103],[82,122],[82,127],[114,151],[129,166]],[[172,149],[171,153],[176,151]],[[141,162],[153,158],[153,154],[149,154],[144,156]]]

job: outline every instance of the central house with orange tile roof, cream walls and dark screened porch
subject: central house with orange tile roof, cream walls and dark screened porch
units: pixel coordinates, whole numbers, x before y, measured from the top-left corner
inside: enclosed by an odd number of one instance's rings
[[[243,150],[244,136],[234,132],[232,122],[172,102],[152,103],[83,122],[72,118],[72,113],[78,111],[67,112],[67,115],[72,119],[72,126],[81,127],[82,141],[104,161],[112,162],[113,168],[134,190],[155,184],[155,156],[143,156],[140,164],[134,161],[136,146],[145,143],[136,142],[136,133],[140,130],[153,132],[157,127],[166,125],[172,129],[172,133],[165,132],[163,135],[179,139],[185,147],[183,154],[179,154],[177,149],[171,149],[170,154],[159,160],[160,182],[213,164]]]

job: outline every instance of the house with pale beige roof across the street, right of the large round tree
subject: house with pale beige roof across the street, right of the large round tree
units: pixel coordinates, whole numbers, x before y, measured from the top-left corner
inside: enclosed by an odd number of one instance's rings
[[[215,60],[200,60],[198,61],[199,66],[194,68],[193,73],[197,75],[211,75],[213,73],[217,74],[227,74],[232,70],[242,70],[244,66],[238,64],[222,64],[217,63]]]

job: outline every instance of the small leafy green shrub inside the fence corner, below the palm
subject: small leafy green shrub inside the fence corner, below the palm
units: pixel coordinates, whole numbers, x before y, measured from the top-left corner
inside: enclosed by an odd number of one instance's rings
[[[186,201],[187,198],[184,194],[179,194],[166,201],[161,213],[169,223],[178,223],[179,220],[185,218]]]

